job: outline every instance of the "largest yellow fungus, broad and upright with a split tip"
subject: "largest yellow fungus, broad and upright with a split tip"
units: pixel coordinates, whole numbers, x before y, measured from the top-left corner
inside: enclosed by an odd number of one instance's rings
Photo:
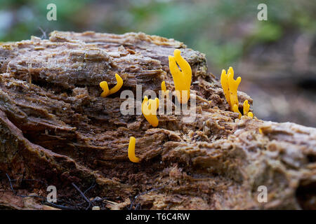
[[[169,56],[169,69],[173,78],[174,87],[176,89],[176,97],[178,102],[186,104],[190,99],[190,86],[192,80],[191,66],[180,55],[180,50],[176,49],[173,56]],[[180,66],[180,69],[178,68]]]

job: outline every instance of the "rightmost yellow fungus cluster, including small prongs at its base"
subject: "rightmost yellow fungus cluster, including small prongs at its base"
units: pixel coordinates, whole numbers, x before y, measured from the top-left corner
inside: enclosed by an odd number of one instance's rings
[[[222,74],[220,75],[220,84],[223,87],[223,92],[225,95],[225,98],[230,105],[230,109],[238,113],[239,119],[242,118],[242,113],[240,113],[238,106],[238,97],[237,97],[237,89],[242,81],[242,78],[240,76],[234,79],[234,69],[230,67],[228,69],[228,72],[226,73],[225,69],[222,70]],[[253,118],[253,113],[249,112],[250,105],[248,104],[248,100],[244,101],[244,116],[249,116],[250,118]]]

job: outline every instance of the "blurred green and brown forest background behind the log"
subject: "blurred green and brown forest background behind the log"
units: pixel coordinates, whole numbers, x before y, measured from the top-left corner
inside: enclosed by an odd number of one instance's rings
[[[57,21],[46,20],[48,3]],[[259,3],[268,6],[267,21],[257,19]],[[258,118],[316,127],[315,12],[310,0],[0,0],[0,41],[53,30],[175,38],[204,52],[217,77],[233,66]]]

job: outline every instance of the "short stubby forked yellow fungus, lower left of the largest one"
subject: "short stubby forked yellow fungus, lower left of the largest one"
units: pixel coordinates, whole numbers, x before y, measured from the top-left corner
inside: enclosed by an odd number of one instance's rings
[[[156,97],[155,99],[148,99],[145,96],[142,104],[142,113],[146,120],[153,127],[157,127],[159,120],[157,118],[157,109],[159,108],[159,99]]]

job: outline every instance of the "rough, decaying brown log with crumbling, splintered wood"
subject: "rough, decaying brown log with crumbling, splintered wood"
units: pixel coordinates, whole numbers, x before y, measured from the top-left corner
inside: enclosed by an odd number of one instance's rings
[[[168,56],[175,48],[192,67],[195,121],[161,115],[152,128],[142,115],[123,116],[121,90],[136,96],[138,84],[158,92],[162,80],[174,90]],[[49,40],[2,43],[0,73],[2,207],[29,208],[5,188],[7,174],[18,183],[40,180],[18,189],[43,197],[44,186],[54,185],[58,195],[78,200],[72,183],[96,183],[91,195],[106,197],[110,208],[316,209],[316,130],[237,119],[205,55],[183,43],[53,31]],[[99,83],[114,85],[115,73],[123,87],[100,97]],[[244,92],[238,97],[252,103]],[[131,136],[139,163],[127,156]],[[258,202],[259,186],[267,187],[268,202]]]

